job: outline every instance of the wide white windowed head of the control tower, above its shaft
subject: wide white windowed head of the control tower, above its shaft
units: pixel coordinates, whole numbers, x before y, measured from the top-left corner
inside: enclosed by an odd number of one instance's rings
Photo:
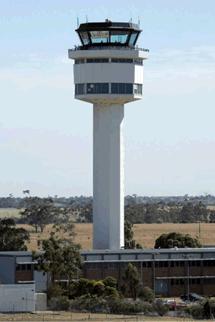
[[[76,32],[81,44],[69,50],[75,62],[75,98],[93,104],[141,99],[148,50],[136,47],[139,26],[105,20],[80,24]]]

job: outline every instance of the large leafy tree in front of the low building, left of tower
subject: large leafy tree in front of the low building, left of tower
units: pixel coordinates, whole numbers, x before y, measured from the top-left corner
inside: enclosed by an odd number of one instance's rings
[[[42,241],[43,252],[37,256],[41,269],[49,272],[51,282],[68,280],[68,287],[74,278],[79,276],[82,264],[80,246],[71,239],[59,238],[55,233]]]

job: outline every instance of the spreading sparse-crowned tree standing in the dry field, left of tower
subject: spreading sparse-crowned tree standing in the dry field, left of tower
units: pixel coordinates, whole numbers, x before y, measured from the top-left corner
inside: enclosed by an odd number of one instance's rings
[[[61,209],[54,206],[52,198],[28,197],[25,199],[25,209],[21,218],[32,225],[36,232],[43,232],[47,224],[56,222]]]

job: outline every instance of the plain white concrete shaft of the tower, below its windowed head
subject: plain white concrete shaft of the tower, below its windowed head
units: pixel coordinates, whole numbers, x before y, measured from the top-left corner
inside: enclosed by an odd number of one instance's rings
[[[93,106],[93,248],[124,246],[124,105]]]

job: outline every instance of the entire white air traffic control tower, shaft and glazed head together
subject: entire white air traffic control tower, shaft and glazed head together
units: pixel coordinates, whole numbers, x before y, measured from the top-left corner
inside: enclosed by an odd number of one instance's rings
[[[75,98],[93,104],[93,248],[124,247],[124,104],[142,99],[143,61],[136,47],[139,26],[90,22],[76,30]]]

